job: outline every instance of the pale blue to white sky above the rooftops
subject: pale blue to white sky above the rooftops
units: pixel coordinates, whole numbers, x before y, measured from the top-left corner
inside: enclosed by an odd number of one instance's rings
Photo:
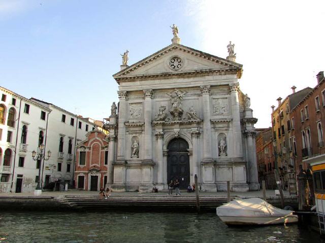
[[[325,69],[325,1],[0,0],[0,86],[102,120],[118,102],[112,77],[171,44],[243,64],[240,89],[256,128],[271,125],[276,99],[315,87]]]

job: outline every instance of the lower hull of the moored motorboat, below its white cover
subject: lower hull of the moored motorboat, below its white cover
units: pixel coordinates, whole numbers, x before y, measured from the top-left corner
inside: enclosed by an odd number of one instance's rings
[[[296,215],[287,215],[283,217],[278,216],[264,216],[264,217],[238,217],[238,216],[219,216],[223,223],[227,225],[270,225],[270,224],[284,224],[297,223],[298,217]]]

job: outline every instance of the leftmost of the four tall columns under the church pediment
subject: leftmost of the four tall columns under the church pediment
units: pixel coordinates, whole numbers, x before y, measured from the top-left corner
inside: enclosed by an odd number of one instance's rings
[[[120,99],[119,109],[118,109],[118,136],[117,136],[117,160],[125,160],[125,125],[124,122],[127,116],[126,107],[126,91],[118,91],[118,98]]]

